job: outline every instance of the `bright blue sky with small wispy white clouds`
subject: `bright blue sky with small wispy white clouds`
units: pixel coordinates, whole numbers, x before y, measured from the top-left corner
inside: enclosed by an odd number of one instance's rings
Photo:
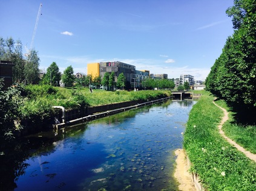
[[[40,69],[87,74],[87,63],[122,61],[153,74],[205,80],[234,32],[233,0],[0,0],[0,36],[33,48]]]

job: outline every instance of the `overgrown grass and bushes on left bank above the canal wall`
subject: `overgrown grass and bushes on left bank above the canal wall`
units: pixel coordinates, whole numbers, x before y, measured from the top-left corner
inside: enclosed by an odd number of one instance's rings
[[[113,104],[124,101],[149,101],[171,96],[169,91],[105,91],[88,88],[63,88],[50,85],[13,86],[2,90],[0,81],[0,139],[11,139],[16,131],[21,130],[22,121],[29,121],[30,126],[49,124],[53,114],[52,106],[65,109],[85,108],[96,105]],[[35,126],[35,127],[36,127]]]

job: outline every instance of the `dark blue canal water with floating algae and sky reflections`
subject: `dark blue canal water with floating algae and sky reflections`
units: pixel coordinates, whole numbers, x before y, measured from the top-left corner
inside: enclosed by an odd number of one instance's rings
[[[12,168],[8,180],[14,183],[18,175],[15,190],[177,190],[172,152],[182,146],[194,102],[180,103],[168,101],[26,137],[21,158],[10,157],[7,164]],[[21,173],[15,174],[18,166]]]

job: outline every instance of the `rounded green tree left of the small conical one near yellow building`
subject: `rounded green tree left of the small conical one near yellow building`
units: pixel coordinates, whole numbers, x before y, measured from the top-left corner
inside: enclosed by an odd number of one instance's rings
[[[47,68],[47,72],[42,78],[42,84],[58,84],[61,80],[61,72],[59,72],[59,67],[56,62],[51,63]]]

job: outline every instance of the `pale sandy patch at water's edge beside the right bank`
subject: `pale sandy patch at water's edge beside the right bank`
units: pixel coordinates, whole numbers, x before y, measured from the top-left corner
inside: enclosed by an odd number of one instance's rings
[[[191,175],[188,172],[188,166],[186,165],[186,156],[183,149],[177,149],[175,151],[177,155],[176,170],[174,177],[179,182],[179,190],[181,191],[195,191],[194,183],[192,182]]]

